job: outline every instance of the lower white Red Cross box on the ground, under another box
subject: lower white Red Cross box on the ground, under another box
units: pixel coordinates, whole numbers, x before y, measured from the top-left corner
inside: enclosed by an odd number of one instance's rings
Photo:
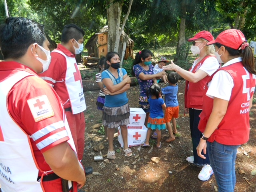
[[[124,147],[120,127],[118,127],[118,141],[121,147]],[[147,131],[146,126],[143,125],[142,129],[127,129],[128,131],[128,147],[137,146],[146,141]]]

